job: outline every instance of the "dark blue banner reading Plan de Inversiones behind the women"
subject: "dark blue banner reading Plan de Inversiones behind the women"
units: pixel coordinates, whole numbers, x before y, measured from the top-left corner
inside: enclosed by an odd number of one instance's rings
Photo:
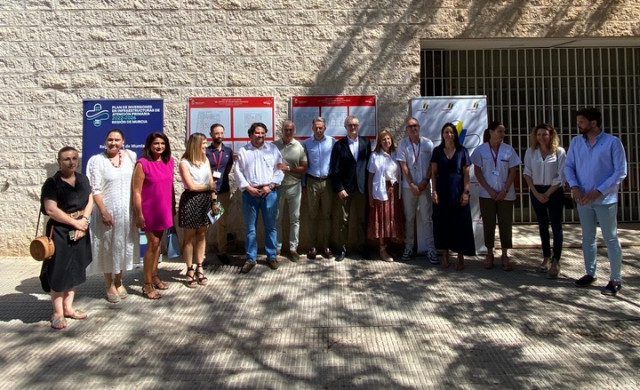
[[[140,158],[148,133],[164,130],[163,99],[83,99],[82,171],[105,149],[108,131],[124,132],[124,148]]]

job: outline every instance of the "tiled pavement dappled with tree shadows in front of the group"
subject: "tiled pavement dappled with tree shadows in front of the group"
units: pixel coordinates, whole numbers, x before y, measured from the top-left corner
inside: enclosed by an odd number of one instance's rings
[[[90,277],[76,291],[90,318],[62,331],[49,328],[38,265],[0,259],[8,273],[0,386],[75,388],[77,378],[83,388],[571,388],[582,378],[640,386],[640,248],[623,249],[618,298],[600,294],[604,282],[573,287],[584,273],[580,250],[564,251],[556,281],[535,272],[538,251],[511,251],[510,273],[479,259],[462,272],[424,259],[284,261],[248,275],[212,267],[210,284],[193,290],[184,265],[165,261],[171,288],[162,299],[141,296],[140,269],[125,274],[130,298],[117,305]]]

